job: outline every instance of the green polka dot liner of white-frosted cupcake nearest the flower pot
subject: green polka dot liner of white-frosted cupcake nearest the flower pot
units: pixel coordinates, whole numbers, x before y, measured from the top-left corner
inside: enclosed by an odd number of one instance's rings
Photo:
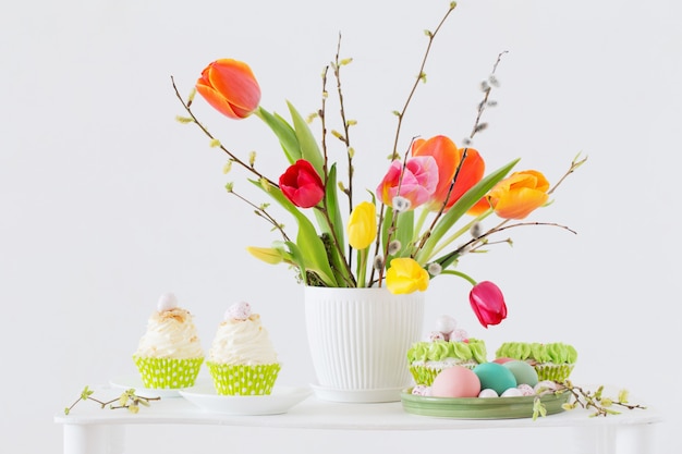
[[[206,365],[220,395],[269,395],[281,368],[277,363],[235,366],[207,361]]]

